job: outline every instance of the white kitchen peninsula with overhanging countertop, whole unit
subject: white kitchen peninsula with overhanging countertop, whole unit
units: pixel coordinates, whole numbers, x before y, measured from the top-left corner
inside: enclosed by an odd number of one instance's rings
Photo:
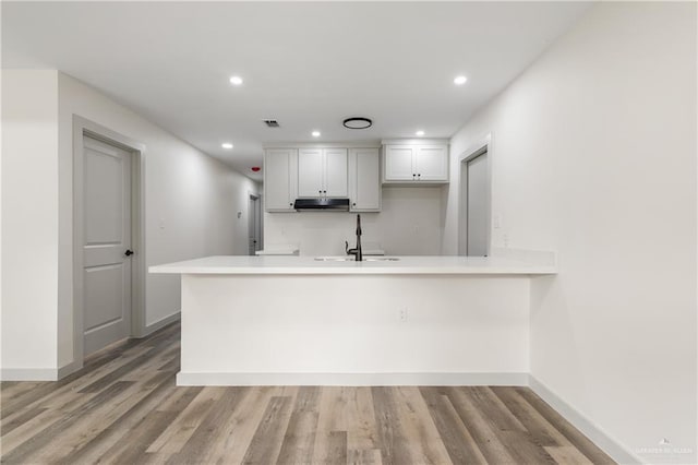
[[[527,383],[530,279],[552,253],[397,259],[152,266],[181,274],[178,384]]]

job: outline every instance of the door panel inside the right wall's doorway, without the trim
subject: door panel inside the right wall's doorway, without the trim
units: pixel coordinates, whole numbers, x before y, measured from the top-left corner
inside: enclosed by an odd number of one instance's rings
[[[488,154],[478,155],[467,162],[468,167],[468,257],[488,254],[489,230],[489,181]]]

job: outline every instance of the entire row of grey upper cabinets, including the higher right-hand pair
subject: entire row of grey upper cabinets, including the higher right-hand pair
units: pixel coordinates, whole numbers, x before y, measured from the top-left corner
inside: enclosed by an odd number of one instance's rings
[[[383,169],[375,147],[267,148],[265,208],[294,212],[298,198],[345,198],[352,212],[380,212],[381,180],[386,186],[448,182],[448,145],[388,141],[383,146]]]

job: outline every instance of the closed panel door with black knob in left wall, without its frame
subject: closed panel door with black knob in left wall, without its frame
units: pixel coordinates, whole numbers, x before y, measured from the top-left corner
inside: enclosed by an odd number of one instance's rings
[[[84,355],[131,334],[131,153],[83,136]]]

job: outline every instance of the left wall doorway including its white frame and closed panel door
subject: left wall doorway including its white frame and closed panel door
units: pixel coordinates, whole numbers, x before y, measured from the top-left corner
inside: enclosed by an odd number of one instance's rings
[[[145,335],[144,147],[73,118],[73,362]]]

